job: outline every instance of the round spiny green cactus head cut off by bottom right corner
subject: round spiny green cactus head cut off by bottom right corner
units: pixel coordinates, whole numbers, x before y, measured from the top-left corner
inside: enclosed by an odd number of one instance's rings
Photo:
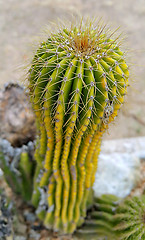
[[[114,223],[118,239],[145,239],[145,196],[125,199],[116,210]]]

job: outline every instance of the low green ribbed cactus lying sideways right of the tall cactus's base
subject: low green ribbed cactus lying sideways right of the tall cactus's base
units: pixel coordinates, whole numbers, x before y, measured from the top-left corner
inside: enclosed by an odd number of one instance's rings
[[[124,200],[103,195],[94,200],[80,234],[96,234],[114,240],[145,239],[145,196]]]

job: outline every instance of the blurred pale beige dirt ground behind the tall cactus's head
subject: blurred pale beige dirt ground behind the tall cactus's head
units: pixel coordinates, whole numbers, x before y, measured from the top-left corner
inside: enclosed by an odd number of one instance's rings
[[[118,120],[105,138],[145,135],[145,1],[144,0],[0,0],[0,85],[21,82],[33,43],[58,18],[102,17],[126,33],[130,88]]]

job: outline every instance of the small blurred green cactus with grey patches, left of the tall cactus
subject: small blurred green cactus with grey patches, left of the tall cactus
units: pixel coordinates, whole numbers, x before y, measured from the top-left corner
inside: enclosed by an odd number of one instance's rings
[[[30,201],[32,196],[35,172],[33,152],[32,142],[21,148],[15,148],[6,139],[0,138],[0,167],[7,183],[25,201]]]

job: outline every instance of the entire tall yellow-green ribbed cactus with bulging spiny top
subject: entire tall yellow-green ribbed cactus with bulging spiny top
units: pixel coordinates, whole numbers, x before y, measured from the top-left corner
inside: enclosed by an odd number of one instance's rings
[[[101,138],[128,85],[118,37],[100,23],[50,33],[28,74],[39,137],[32,203],[45,225],[72,233],[86,216]]]

